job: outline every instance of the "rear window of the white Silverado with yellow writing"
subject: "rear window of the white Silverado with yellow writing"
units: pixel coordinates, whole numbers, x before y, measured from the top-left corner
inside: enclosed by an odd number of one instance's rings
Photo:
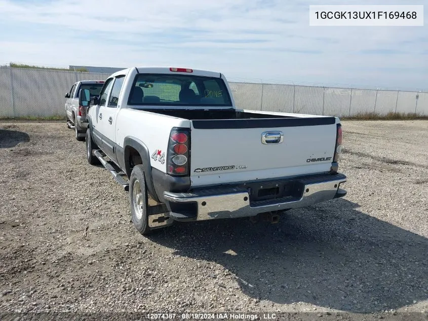
[[[220,78],[192,75],[139,74],[130,105],[231,106],[227,88]]]

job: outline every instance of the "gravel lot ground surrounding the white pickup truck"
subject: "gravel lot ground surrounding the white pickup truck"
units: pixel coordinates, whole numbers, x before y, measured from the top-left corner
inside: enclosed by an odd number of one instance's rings
[[[343,199],[146,238],[65,123],[0,122],[0,312],[426,319],[428,121],[342,125]]]

